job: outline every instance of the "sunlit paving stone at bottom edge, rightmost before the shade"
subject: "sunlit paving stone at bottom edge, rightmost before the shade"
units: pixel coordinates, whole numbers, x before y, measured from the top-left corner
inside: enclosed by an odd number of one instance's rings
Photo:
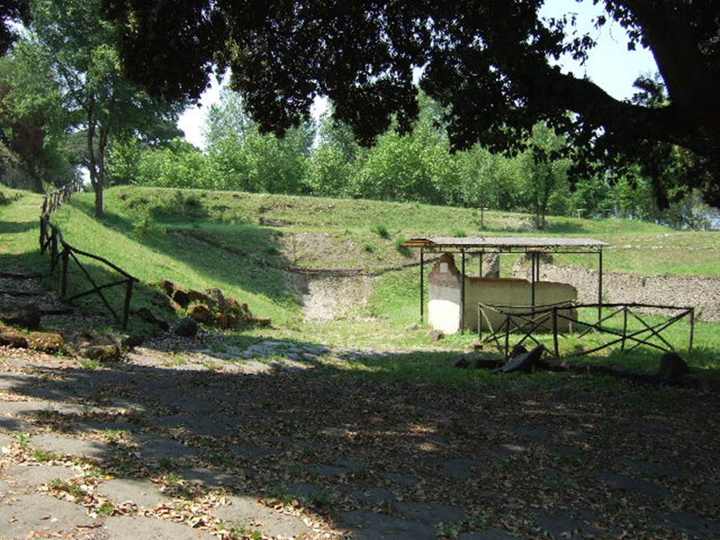
[[[248,495],[231,497],[230,505],[219,506],[212,513],[222,521],[251,524],[267,536],[287,538],[312,532],[299,518],[274,512]]]

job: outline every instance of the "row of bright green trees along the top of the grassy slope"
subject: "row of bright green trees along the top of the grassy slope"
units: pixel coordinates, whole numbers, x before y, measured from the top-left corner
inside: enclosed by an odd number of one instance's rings
[[[241,190],[325,197],[358,197],[487,207],[528,212],[536,228],[546,215],[618,215],[702,228],[701,202],[661,212],[652,184],[640,174],[615,179],[596,175],[571,189],[570,160],[559,152],[567,140],[544,124],[534,126],[526,150],[513,157],[474,145],[451,153],[442,111],[420,93],[420,113],[406,135],[392,126],[372,148],[351,128],[325,114],[284,138],[262,134],[243,99],[224,89],[205,125],[207,149],[183,140],[155,148],[118,145],[109,167],[116,183]],[[692,209],[692,210],[691,210]],[[694,213],[693,213],[694,212]],[[690,216],[692,222],[690,222]]]

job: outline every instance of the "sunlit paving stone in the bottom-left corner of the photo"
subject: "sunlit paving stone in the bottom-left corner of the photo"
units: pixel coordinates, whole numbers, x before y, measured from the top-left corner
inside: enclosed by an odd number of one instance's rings
[[[6,497],[0,505],[3,538],[29,538],[32,531],[74,531],[77,525],[92,521],[83,507],[39,493]]]

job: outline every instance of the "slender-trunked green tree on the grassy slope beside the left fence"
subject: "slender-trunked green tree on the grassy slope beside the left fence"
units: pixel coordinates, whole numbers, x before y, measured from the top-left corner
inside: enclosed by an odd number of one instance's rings
[[[117,29],[101,17],[101,0],[32,0],[29,39],[45,49],[66,107],[84,130],[95,215],[103,217],[106,152],[116,136],[143,132],[178,107],[153,99],[125,78]]]

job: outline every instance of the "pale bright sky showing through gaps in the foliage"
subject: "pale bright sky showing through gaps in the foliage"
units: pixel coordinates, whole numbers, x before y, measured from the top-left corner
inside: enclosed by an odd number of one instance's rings
[[[564,14],[577,14],[577,31],[581,34],[588,32],[598,45],[590,51],[590,58],[581,66],[567,56],[561,58],[559,65],[562,71],[575,76],[588,76],[595,84],[602,87],[608,94],[616,99],[626,99],[634,93],[633,83],[638,76],[657,71],[652,53],[647,49],[638,47],[637,50],[627,50],[626,33],[619,24],[612,19],[608,20],[600,30],[595,30],[592,21],[598,14],[603,13],[601,5],[593,5],[590,0],[578,3],[575,0],[548,0],[541,9],[542,17],[562,17]],[[220,99],[220,88],[224,81],[218,83],[215,77],[207,91],[202,94],[199,107],[193,106],[184,112],[178,122],[178,127],[185,132],[185,138],[199,148],[204,148],[205,140],[202,127],[207,109]],[[315,99],[312,110],[314,117],[318,117],[327,109],[327,101],[322,98]]]

